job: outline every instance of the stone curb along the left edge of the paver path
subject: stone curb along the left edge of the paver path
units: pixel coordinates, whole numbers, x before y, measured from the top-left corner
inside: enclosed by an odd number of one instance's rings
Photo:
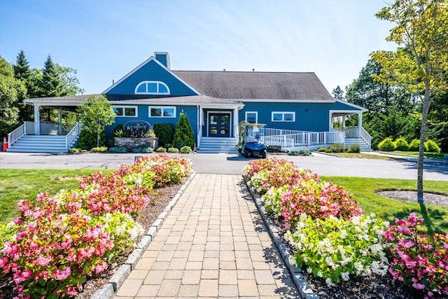
[[[196,176],[196,172],[193,172],[193,174],[190,175],[190,177],[187,179],[187,181],[183,184],[183,186],[179,189],[178,193],[174,195],[173,199],[167,207],[165,207],[164,211],[159,214],[158,218],[153,222],[151,227],[148,229],[148,232],[146,232],[146,235],[141,239],[139,244],[137,244],[136,248],[130,256],[127,258],[125,263],[121,265],[117,272],[113,274],[109,282],[104,284],[104,286],[96,291],[90,299],[112,299],[115,295],[115,292],[120,288],[120,286],[123,284],[125,279],[129,276],[132,270],[134,270],[134,267],[137,265],[139,260],[141,259],[141,256],[143,256],[143,253],[148,248],[149,244],[153,241],[155,235],[157,235],[158,230],[160,230],[160,227],[162,226],[162,223],[167,218],[169,211],[171,211],[176,204],[176,202],[181,198],[181,195],[183,191],[186,190],[188,185],[190,185],[192,179]]]

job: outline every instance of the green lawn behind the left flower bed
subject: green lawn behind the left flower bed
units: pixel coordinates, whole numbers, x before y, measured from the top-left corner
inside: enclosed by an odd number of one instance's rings
[[[34,200],[39,193],[57,193],[77,188],[83,176],[92,169],[0,169],[0,222],[18,215],[20,200]],[[103,170],[104,173],[112,172]]]

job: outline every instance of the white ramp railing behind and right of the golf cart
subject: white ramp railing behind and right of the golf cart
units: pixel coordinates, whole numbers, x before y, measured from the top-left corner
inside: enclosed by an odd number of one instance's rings
[[[247,130],[248,137],[258,136],[267,146],[295,148],[317,144],[344,144],[343,132],[307,132],[259,128],[258,132]]]

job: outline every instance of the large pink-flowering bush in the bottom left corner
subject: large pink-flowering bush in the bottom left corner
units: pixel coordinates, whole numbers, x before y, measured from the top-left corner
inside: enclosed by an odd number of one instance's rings
[[[48,193],[19,208],[16,234],[0,254],[1,272],[13,273],[18,298],[76,295],[87,275],[106,270],[113,242],[102,223],[82,210],[62,212]]]

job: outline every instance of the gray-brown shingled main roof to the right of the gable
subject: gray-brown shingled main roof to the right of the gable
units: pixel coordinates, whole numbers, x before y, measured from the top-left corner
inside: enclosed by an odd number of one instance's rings
[[[202,95],[221,99],[332,100],[314,73],[173,71]]]

